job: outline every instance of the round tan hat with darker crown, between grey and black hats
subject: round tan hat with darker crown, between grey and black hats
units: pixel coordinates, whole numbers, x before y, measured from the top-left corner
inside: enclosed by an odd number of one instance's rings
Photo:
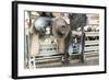
[[[62,18],[58,18],[52,22],[52,34],[57,38],[65,38],[70,32],[70,26]]]

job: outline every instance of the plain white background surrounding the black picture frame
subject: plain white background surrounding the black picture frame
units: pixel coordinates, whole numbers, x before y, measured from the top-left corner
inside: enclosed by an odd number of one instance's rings
[[[12,80],[11,79],[11,1],[0,1],[0,80]],[[27,1],[27,0],[26,0]],[[35,0],[32,0],[35,1]],[[107,5],[109,9],[109,0],[36,0],[40,2],[57,2],[57,3],[71,3],[71,4],[90,4],[90,5]],[[109,14],[109,11],[108,13]],[[109,18],[109,15],[107,15]],[[107,20],[108,22],[109,20]],[[109,25],[109,24],[108,24]],[[107,25],[107,31],[109,30]],[[109,32],[107,32],[109,34]],[[109,36],[107,36],[109,41]],[[107,44],[109,44],[107,42]],[[107,45],[107,48],[109,45]],[[107,50],[107,60],[109,61],[109,50]],[[107,67],[109,64],[107,62]],[[108,69],[109,72],[109,69]],[[105,75],[88,75],[88,76],[72,76],[72,77],[57,77],[57,78],[41,78],[39,80],[108,80],[109,73]],[[28,79],[35,80],[35,79]]]

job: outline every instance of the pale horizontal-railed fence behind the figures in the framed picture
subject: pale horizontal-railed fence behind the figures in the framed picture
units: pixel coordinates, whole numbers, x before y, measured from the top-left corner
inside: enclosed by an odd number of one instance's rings
[[[81,32],[75,32],[73,34],[80,34]],[[84,59],[99,58],[99,32],[85,32],[86,39],[84,48]],[[93,38],[93,39],[89,39]],[[75,44],[76,46],[76,44]],[[34,58],[29,58],[29,68],[35,68],[38,65],[61,61],[62,54],[59,54],[55,49],[55,45],[41,45],[43,52],[36,55]],[[50,48],[50,49],[49,49]],[[51,49],[52,48],[52,49]],[[46,50],[45,50],[46,49]],[[74,48],[75,49],[75,48]],[[76,49],[77,50],[77,49]],[[72,54],[72,56],[78,56],[80,54]]]

